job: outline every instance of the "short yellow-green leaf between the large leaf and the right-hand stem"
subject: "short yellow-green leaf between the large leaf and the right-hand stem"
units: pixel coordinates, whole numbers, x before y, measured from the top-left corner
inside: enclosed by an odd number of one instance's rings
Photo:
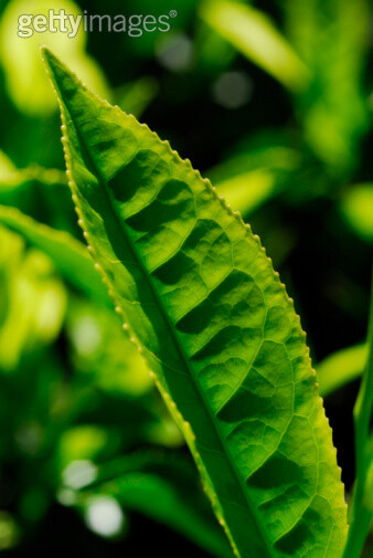
[[[366,345],[355,345],[333,352],[316,368],[320,393],[329,396],[337,389],[359,378],[366,362]]]

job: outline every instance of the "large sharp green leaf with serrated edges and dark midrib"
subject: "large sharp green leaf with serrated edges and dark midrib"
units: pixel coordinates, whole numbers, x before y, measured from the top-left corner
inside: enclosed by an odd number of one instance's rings
[[[337,558],[345,505],[299,318],[248,225],[44,50],[73,200],[242,558]]]

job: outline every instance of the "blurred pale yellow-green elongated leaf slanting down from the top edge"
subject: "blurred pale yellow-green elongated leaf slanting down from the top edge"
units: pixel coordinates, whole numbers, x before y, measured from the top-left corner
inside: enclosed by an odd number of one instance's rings
[[[307,87],[306,65],[265,13],[226,0],[206,0],[200,13],[212,29],[286,87]]]

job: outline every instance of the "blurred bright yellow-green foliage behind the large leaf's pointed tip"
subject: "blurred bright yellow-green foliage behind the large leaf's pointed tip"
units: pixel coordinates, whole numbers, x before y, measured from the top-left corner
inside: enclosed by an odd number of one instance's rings
[[[55,99],[40,62],[41,36],[36,32],[26,36],[30,21],[20,28],[19,18],[28,14],[47,15],[50,10],[65,10],[66,14],[75,18],[81,13],[70,0],[13,0],[6,8],[0,23],[0,55],[8,92],[18,108],[28,115],[42,116],[54,110]],[[65,25],[68,30],[66,33],[43,32],[43,44],[63,53],[75,71],[83,72],[85,82],[97,88],[97,93],[110,96],[102,70],[85,52],[86,34],[83,27],[75,33],[70,20],[66,20]]]

